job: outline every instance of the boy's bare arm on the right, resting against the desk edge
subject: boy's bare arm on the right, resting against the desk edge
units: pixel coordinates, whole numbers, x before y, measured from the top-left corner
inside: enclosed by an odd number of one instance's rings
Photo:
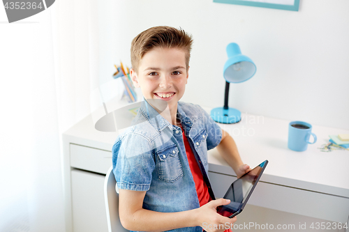
[[[222,139],[221,143],[217,146],[217,150],[223,159],[228,162],[230,167],[234,169],[237,178],[251,170],[247,164],[242,162],[239,151],[237,150],[237,144],[235,144],[234,139],[225,130],[222,130]]]

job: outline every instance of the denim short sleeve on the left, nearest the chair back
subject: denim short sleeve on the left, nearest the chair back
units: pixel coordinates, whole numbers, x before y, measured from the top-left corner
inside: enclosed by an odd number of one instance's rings
[[[127,134],[114,144],[112,165],[119,189],[149,190],[155,162],[149,141],[140,134]]]

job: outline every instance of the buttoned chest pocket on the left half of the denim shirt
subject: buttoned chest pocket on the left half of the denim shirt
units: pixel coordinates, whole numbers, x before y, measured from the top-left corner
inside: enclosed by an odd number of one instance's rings
[[[183,176],[179,150],[175,144],[158,150],[158,178],[166,182],[174,182]]]

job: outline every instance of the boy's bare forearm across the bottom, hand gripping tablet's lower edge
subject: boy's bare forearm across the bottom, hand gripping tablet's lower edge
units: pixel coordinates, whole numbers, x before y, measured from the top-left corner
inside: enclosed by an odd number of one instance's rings
[[[205,226],[236,222],[236,217],[218,215],[216,207],[230,201],[218,199],[205,206],[183,212],[156,212],[142,208],[145,191],[119,189],[119,217],[122,226],[130,231],[168,231],[191,226]],[[213,226],[212,226],[213,227]],[[223,227],[223,226],[221,226]],[[206,231],[217,231],[206,229]],[[218,231],[224,231],[218,230]]]

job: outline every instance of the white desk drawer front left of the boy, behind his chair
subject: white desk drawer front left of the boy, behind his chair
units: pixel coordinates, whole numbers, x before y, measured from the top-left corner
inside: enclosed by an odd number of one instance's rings
[[[70,167],[106,174],[110,166],[110,151],[70,144]]]

